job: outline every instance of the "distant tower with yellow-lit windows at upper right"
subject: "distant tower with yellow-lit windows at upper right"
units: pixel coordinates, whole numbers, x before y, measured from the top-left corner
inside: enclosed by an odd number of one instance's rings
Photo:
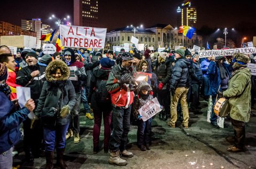
[[[196,28],[196,8],[191,6],[190,1],[184,1],[177,9],[177,26],[191,26]]]

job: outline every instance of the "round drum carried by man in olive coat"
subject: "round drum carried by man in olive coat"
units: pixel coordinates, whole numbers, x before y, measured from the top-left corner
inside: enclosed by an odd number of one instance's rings
[[[217,116],[226,117],[230,112],[228,99],[219,98],[215,101],[213,111]]]

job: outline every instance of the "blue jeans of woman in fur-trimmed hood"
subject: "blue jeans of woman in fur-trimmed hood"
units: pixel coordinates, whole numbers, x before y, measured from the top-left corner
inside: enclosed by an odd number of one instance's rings
[[[55,127],[43,127],[45,151],[54,151],[55,140],[57,149],[65,148],[68,124]]]

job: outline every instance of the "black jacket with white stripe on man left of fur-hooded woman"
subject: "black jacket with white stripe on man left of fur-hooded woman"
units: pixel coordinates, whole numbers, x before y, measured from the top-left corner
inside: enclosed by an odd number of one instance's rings
[[[39,66],[36,64],[36,66],[33,67],[27,66],[22,68],[17,74],[16,83],[21,86],[26,86],[32,79],[30,74],[35,70],[39,70],[39,76],[34,77],[31,83],[27,86],[30,87],[31,99],[36,103],[39,99],[43,83],[45,81],[45,68],[45,66]]]

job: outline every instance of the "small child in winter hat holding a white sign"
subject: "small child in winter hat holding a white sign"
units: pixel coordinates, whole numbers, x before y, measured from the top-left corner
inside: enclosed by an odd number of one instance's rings
[[[153,99],[153,92],[148,83],[143,82],[138,86],[137,96],[134,97],[133,114],[138,118],[138,131],[137,131],[137,144],[141,151],[150,150],[151,144],[151,122],[152,118],[149,118],[146,122],[141,119],[139,109],[144,106],[148,101]]]

